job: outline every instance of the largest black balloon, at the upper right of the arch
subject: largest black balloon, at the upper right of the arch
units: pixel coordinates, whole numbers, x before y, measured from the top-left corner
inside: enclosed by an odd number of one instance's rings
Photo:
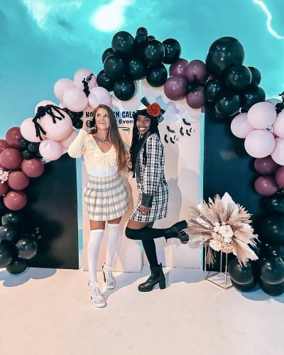
[[[207,53],[206,65],[210,73],[220,75],[224,70],[244,62],[244,46],[234,37],[215,40]]]

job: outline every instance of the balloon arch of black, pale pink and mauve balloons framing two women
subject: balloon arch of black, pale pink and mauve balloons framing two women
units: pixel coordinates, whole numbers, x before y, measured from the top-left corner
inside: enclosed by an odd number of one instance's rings
[[[48,160],[65,153],[76,129],[82,128],[82,111],[99,103],[111,105],[109,92],[128,101],[136,94],[136,81],[146,78],[152,87],[163,86],[168,99],[185,99],[192,109],[211,103],[216,119],[245,139],[246,152],[256,158],[254,167],[260,174],[255,189],[263,196],[269,217],[261,226],[258,261],[246,267],[231,261],[231,280],[239,290],[251,289],[258,280],[270,295],[284,292],[284,93],[282,101],[266,100],[258,86],[261,72],[244,65],[244,47],[236,38],[215,40],[205,62],[187,61],[180,54],[180,43],[173,38],[160,42],[146,28],[138,28],[135,38],[119,31],[104,50],[104,69],[97,77],[82,68],[74,80],[58,80],[54,92],[60,104],[38,103],[33,118],[7,131],[6,139],[0,140],[0,268],[22,273],[25,260],[35,256],[40,231],[23,226],[21,209],[28,202],[24,190],[31,178],[43,174]],[[168,70],[165,65],[170,65]]]

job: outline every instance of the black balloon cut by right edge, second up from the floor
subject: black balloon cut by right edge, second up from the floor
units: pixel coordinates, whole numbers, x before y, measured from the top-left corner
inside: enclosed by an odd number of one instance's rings
[[[277,285],[284,283],[284,261],[282,258],[266,258],[260,263],[259,277],[265,283]]]

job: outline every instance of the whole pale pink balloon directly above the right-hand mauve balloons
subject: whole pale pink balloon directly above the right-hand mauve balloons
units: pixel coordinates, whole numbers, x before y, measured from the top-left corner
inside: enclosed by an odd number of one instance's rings
[[[264,158],[271,154],[275,146],[275,138],[267,129],[255,129],[246,136],[244,148],[254,158]]]

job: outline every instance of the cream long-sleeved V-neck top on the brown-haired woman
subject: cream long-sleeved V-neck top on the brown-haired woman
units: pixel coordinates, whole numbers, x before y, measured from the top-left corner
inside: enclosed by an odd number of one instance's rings
[[[129,150],[126,143],[124,143],[124,146],[126,150]],[[84,163],[89,175],[105,177],[114,175],[117,171],[114,146],[111,146],[107,153],[102,152],[92,134],[88,134],[84,129],[80,129],[77,137],[70,144],[67,153],[72,158],[79,158],[84,155]]]

